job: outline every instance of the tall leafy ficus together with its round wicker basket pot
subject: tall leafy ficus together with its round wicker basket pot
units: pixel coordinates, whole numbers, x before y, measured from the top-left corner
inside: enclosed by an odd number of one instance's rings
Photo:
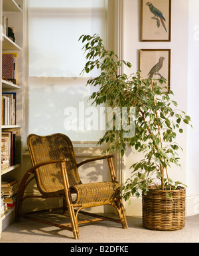
[[[132,176],[122,188],[123,198],[129,200],[132,195],[139,197],[143,194],[145,227],[181,229],[185,223],[185,187],[181,182],[172,182],[168,168],[172,170],[172,164],[180,166],[176,132],[183,132],[181,124],[189,124],[190,117],[176,110],[177,102],[170,99],[173,92],[164,90],[164,78],[154,82],[151,78],[141,79],[140,72],[129,76],[121,74],[121,66],[131,68],[131,63],[119,60],[113,51],[107,51],[100,36],[82,35],[80,41],[84,43],[87,59],[82,72],[88,73],[94,68],[101,70],[99,76],[87,82],[99,86],[99,90],[90,96],[93,103],[121,110],[125,108],[128,123],[132,121],[132,108],[135,110],[133,134],[127,131],[129,126],[124,128],[122,125],[122,120],[125,120],[122,117],[117,129],[117,114],[123,112],[115,112],[112,128],[107,129],[98,142],[107,142],[105,153],[119,150],[123,156],[128,147],[143,152],[143,159],[131,166]]]

